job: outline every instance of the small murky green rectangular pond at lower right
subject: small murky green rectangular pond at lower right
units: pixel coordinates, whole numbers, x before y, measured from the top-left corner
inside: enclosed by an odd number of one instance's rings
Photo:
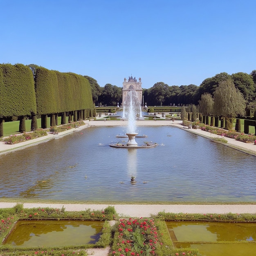
[[[199,249],[203,256],[256,256],[256,223],[166,222],[176,248]]]

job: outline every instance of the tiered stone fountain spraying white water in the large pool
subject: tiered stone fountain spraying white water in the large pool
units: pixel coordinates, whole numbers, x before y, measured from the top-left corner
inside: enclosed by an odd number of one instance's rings
[[[144,143],[142,146],[138,146],[135,141],[135,137],[138,135],[136,132],[136,120],[144,119],[142,117],[141,106],[139,103],[139,99],[137,97],[136,90],[130,90],[125,98],[123,104],[123,120],[128,120],[128,128],[126,132],[126,136],[128,136],[128,142],[126,144],[110,144],[112,147],[116,148],[145,148],[145,147],[155,147],[157,144]],[[139,137],[147,137],[146,135]]]

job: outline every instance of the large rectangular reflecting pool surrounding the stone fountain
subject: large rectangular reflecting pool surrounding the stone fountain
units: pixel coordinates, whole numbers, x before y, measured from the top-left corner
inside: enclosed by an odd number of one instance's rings
[[[139,126],[138,144],[112,148],[125,127],[90,127],[0,155],[0,197],[113,201],[254,201],[256,157],[171,126]],[[130,163],[130,164],[128,164]],[[4,170],[4,171],[3,171]],[[136,183],[131,184],[131,175]]]

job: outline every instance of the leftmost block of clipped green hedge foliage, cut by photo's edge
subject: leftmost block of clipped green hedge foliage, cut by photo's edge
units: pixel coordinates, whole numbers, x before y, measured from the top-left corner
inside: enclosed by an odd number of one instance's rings
[[[0,64],[0,116],[36,114],[34,78],[29,67],[22,64]]]

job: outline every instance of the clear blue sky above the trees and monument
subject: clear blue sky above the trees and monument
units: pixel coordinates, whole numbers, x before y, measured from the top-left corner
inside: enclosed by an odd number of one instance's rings
[[[0,63],[122,87],[256,70],[255,0],[0,0]]]

